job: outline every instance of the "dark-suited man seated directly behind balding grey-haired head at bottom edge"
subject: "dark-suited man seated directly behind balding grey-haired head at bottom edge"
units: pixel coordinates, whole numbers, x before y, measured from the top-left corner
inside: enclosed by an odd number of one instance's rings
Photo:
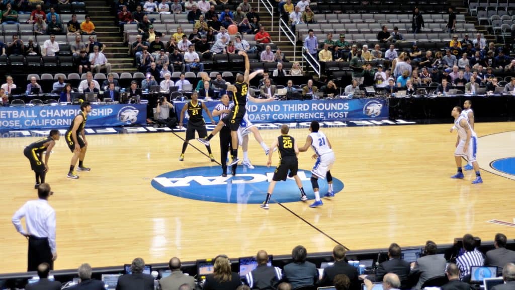
[[[408,276],[410,272],[410,264],[406,261],[401,260],[401,247],[392,243],[388,248],[388,261],[385,261],[377,266],[375,277],[366,277],[368,280],[381,282],[386,273],[396,273],[401,280],[402,287],[406,288],[408,282]]]

